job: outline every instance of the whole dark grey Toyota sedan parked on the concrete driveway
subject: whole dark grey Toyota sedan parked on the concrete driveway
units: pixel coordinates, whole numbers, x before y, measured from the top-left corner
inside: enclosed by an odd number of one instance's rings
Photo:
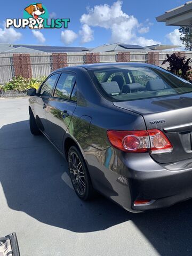
[[[192,197],[192,84],[141,63],[55,70],[29,89],[30,130],[66,157],[77,196],[132,212]]]

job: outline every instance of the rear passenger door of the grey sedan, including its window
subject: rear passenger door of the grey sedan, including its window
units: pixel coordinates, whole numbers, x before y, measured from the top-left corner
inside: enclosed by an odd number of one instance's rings
[[[63,150],[63,136],[76,108],[76,75],[61,73],[52,97],[46,107],[49,137],[60,151]]]

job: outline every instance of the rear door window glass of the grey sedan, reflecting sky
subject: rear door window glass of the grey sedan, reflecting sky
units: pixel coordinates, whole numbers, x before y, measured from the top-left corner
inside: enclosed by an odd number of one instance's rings
[[[75,82],[75,75],[69,73],[62,73],[55,88],[53,97],[69,100]]]

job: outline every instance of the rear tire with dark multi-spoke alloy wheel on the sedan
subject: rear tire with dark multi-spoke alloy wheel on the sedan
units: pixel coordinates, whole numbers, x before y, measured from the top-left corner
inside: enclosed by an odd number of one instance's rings
[[[69,175],[75,193],[83,201],[89,201],[94,197],[95,191],[91,183],[85,160],[79,149],[75,146],[69,148],[68,165]]]

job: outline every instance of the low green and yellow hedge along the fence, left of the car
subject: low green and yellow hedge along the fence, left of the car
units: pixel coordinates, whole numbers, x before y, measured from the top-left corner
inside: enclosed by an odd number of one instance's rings
[[[37,90],[45,78],[45,76],[39,78],[24,78],[22,76],[15,76],[13,79],[7,82],[5,86],[1,86],[0,90],[5,92],[10,90],[25,92],[30,88],[35,88]]]

